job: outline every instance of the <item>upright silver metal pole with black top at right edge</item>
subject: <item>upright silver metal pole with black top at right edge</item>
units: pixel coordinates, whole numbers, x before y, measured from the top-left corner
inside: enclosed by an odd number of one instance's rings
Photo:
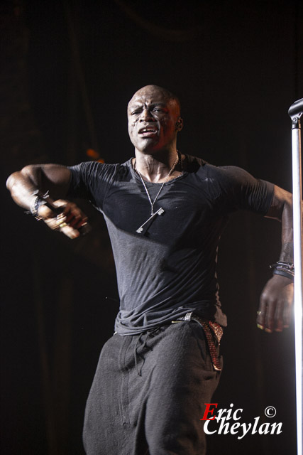
[[[290,107],[292,119],[292,195],[294,210],[294,343],[296,359],[296,403],[297,403],[297,455],[302,453],[303,392],[302,392],[302,157],[301,117],[303,98]]]

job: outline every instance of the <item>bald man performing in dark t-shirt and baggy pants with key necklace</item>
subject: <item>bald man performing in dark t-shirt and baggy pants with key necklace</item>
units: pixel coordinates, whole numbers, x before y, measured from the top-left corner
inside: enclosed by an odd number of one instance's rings
[[[88,455],[205,453],[200,419],[219,381],[226,326],[216,252],[233,210],[282,220],[282,252],[263,290],[257,323],[268,332],[290,324],[290,193],[243,169],[180,154],[182,127],[177,98],[148,85],[128,103],[135,158],[71,168],[26,166],[7,183],[18,205],[70,238],[79,236],[87,218],[65,197],[91,200],[109,229],[121,303],[87,400]],[[46,191],[52,199],[43,196]],[[49,200],[61,215],[45,204]]]

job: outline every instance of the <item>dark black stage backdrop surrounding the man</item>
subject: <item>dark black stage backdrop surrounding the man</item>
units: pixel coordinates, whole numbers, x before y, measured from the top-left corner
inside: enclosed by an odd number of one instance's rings
[[[133,156],[126,104],[155,83],[180,96],[179,149],[292,188],[287,109],[303,96],[299,1],[6,1],[1,4],[1,454],[84,454],[84,406],[118,310],[104,222],[71,241],[14,205],[4,183],[38,162]],[[93,149],[92,152],[87,150]],[[81,203],[80,203],[81,204]],[[236,213],[221,240],[228,315],[214,402],[282,434],[212,435],[209,455],[296,453],[294,326],[255,326],[280,223]]]

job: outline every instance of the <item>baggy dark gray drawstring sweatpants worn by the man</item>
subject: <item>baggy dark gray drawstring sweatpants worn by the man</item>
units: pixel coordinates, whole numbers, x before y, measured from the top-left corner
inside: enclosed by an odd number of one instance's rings
[[[195,321],[115,334],[101,350],[87,400],[87,455],[204,455],[200,419],[219,375]]]

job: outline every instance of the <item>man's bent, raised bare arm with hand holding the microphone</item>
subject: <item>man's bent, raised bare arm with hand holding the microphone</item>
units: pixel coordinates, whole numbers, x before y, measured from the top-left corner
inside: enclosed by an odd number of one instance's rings
[[[75,203],[65,200],[70,187],[70,169],[58,164],[36,164],[14,172],[6,181],[16,204],[31,210],[37,191],[49,194],[49,202],[60,208],[57,215],[46,205],[38,207],[38,215],[50,229],[60,230],[67,237],[79,237],[79,228],[87,223],[87,217]]]

